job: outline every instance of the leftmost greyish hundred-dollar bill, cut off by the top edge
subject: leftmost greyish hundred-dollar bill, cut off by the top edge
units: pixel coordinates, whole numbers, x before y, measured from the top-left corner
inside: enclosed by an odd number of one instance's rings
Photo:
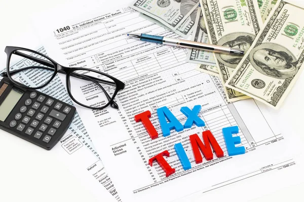
[[[199,6],[199,0],[136,0],[131,7],[176,30]]]

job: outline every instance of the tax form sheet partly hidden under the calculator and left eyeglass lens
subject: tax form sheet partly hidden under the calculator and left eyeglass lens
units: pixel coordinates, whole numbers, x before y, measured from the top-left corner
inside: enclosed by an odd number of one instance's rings
[[[48,55],[44,47],[37,48],[36,51]],[[15,63],[15,65],[11,66],[12,70],[20,67],[24,68],[24,66],[37,65],[30,63],[27,59],[12,61],[12,63]],[[0,72],[4,71],[6,69]],[[40,75],[40,71],[20,72],[15,74],[13,79],[18,79],[21,83],[28,83],[27,85],[34,86],[35,83],[31,80],[31,78],[35,77],[34,75]],[[1,79],[2,77],[0,77]],[[44,77],[44,79],[46,78]],[[73,105],[58,75],[50,84],[39,89],[39,91]],[[64,162],[69,170],[88,187],[99,201],[121,201],[78,113],[75,114],[64,136],[49,152],[54,153],[58,159]]]

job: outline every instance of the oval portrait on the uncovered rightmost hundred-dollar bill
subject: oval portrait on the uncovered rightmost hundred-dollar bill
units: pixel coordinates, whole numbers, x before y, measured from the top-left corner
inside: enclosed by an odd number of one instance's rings
[[[293,54],[275,43],[263,43],[253,48],[250,52],[250,62],[260,73],[279,79],[292,77],[298,71]]]

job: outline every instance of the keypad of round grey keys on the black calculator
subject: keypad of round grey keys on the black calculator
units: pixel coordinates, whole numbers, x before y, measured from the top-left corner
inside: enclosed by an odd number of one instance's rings
[[[61,137],[67,127],[67,117],[72,115],[71,106],[38,92],[30,92],[20,100],[21,108],[9,120],[9,127],[32,143],[49,148]],[[18,131],[18,132],[17,132]],[[53,140],[53,141],[52,141]]]

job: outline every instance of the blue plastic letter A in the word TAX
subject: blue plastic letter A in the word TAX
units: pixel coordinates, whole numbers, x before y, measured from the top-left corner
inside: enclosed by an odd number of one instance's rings
[[[170,135],[170,130],[172,130],[173,128],[175,128],[177,132],[183,130],[183,126],[181,125],[181,123],[176,119],[176,117],[167,107],[157,109],[157,115],[160,120],[160,125],[164,137]],[[167,123],[166,118],[169,120],[169,123]]]

